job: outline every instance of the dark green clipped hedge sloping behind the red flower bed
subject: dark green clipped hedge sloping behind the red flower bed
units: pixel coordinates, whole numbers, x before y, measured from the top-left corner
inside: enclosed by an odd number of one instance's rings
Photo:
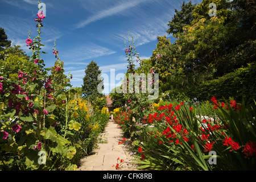
[[[220,78],[206,81],[196,88],[184,90],[187,96],[199,100],[209,100],[212,96],[219,99],[234,97],[238,102],[245,100],[246,104],[254,103],[255,88],[255,63],[247,67],[239,68],[235,72],[228,73]]]

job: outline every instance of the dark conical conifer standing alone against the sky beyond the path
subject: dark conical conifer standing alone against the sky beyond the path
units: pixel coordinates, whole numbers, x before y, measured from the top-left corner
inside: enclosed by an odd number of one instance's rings
[[[101,70],[99,69],[97,63],[93,60],[87,65],[85,69],[85,76],[82,78],[84,85],[82,85],[82,94],[90,100],[95,100],[97,97],[103,97],[102,93],[98,92],[98,86],[102,84],[102,80],[98,80],[98,76],[101,75]],[[102,84],[101,89],[104,89]]]

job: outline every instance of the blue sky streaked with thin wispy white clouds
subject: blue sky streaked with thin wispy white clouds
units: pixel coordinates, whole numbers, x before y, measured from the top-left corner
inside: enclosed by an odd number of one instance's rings
[[[108,94],[120,80],[110,84],[110,69],[115,75],[126,72],[125,43],[128,32],[134,37],[135,47],[141,59],[148,59],[156,48],[157,37],[166,35],[168,21],[180,10],[179,0],[44,0],[46,19],[43,19],[42,55],[46,68],[52,67],[54,40],[65,74],[73,75],[73,87],[82,85],[85,68],[94,60],[105,78],[104,93]],[[185,0],[185,3],[189,2]],[[193,0],[192,3],[201,3]],[[31,55],[26,46],[28,31],[31,38],[37,36],[34,19],[37,18],[37,0],[0,0],[0,27],[5,29],[12,45],[20,45]]]

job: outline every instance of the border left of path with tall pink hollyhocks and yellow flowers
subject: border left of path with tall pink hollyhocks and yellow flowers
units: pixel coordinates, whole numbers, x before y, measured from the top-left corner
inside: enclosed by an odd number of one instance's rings
[[[57,60],[52,68],[45,68],[40,38],[45,16],[42,12],[37,16],[38,36],[24,40],[32,55],[22,60],[26,66],[20,65],[17,79],[10,77],[7,63],[0,61],[0,169],[75,170],[77,160],[96,142],[108,114],[88,115],[91,107],[80,97],[77,100],[72,75],[64,75],[55,43]],[[46,163],[39,161],[42,158]]]

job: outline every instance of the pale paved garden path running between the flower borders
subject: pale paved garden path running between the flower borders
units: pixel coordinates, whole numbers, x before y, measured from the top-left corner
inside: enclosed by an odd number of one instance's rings
[[[81,166],[77,171],[115,171],[115,166],[119,163],[119,171],[137,171],[135,163],[131,163],[133,156],[129,156],[129,151],[124,147],[122,142],[123,131],[110,119],[104,133],[106,142],[98,143],[98,147],[94,148],[92,155],[81,159]],[[117,161],[123,159],[124,162]]]

